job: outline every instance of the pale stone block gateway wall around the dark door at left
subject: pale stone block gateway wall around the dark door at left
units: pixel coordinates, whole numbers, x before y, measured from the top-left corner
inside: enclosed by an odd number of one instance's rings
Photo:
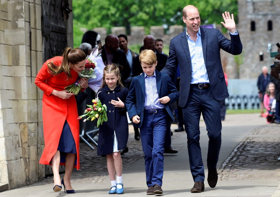
[[[72,1],[69,2],[72,7]],[[42,91],[34,84],[42,67],[41,0],[1,0],[0,192],[45,177]],[[73,18],[67,29],[73,46]]]

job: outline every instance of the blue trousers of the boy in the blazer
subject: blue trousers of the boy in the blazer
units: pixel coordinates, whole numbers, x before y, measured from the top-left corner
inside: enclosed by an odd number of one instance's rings
[[[167,115],[165,109],[157,110],[157,113],[144,112],[143,123],[140,128],[140,137],[145,154],[145,171],[148,187],[154,184],[162,186],[163,144],[166,123]]]

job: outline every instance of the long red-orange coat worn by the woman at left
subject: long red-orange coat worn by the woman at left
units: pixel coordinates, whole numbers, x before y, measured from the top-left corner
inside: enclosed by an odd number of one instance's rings
[[[40,164],[49,164],[57,151],[59,139],[62,133],[62,128],[65,120],[67,120],[70,129],[72,131],[77,150],[77,169],[80,168],[79,159],[79,121],[78,110],[75,96],[71,96],[69,99],[61,99],[54,96],[52,91],[62,91],[66,86],[69,86],[76,82],[78,73],[71,70],[72,78],[67,80],[67,76],[64,72],[53,76],[48,73],[47,62],[52,61],[55,65],[60,66],[62,63],[62,57],[54,57],[47,60],[40,71],[38,72],[35,84],[44,91],[42,100],[42,116],[43,116],[43,128],[44,128],[44,139],[45,148],[42,153]],[[65,165],[65,163],[60,163]]]

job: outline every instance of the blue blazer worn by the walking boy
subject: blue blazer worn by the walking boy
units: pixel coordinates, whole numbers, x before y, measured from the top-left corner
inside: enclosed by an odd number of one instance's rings
[[[157,93],[159,98],[162,98],[164,96],[168,96],[170,98],[170,102],[164,104],[164,108],[167,112],[167,120],[169,122],[173,122],[173,113],[169,105],[178,99],[179,92],[173,85],[171,78],[167,74],[160,73],[155,70],[155,77],[157,81]],[[141,75],[132,78],[126,99],[126,107],[129,119],[131,120],[134,115],[138,115],[140,117],[140,123],[133,123],[133,126],[138,128],[142,126],[143,122],[145,94],[145,75],[143,72]]]

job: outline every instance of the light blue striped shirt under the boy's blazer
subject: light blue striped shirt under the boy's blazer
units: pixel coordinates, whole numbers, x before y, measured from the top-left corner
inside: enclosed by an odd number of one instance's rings
[[[157,92],[157,80],[155,78],[155,72],[152,76],[145,76],[145,104],[144,109],[163,109],[164,105],[161,104],[158,99]]]

